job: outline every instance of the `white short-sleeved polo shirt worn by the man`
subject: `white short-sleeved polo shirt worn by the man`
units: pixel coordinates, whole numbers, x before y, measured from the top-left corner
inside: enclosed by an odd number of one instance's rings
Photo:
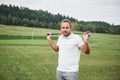
[[[70,36],[59,36],[58,71],[76,72],[79,69],[80,49],[84,44],[79,35],[71,33]]]

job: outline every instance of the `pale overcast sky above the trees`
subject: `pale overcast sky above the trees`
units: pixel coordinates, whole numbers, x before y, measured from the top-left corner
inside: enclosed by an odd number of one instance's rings
[[[120,0],[0,0],[0,4],[47,10],[79,21],[104,21],[120,25]]]

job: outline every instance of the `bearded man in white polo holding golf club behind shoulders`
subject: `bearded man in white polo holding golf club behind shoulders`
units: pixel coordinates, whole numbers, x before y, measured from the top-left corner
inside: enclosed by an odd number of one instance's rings
[[[59,52],[58,66],[56,70],[57,80],[78,80],[80,51],[90,54],[88,39],[90,32],[85,32],[82,38],[72,33],[72,23],[68,19],[61,22],[61,35],[57,44],[54,43],[49,33],[47,40],[52,49]]]

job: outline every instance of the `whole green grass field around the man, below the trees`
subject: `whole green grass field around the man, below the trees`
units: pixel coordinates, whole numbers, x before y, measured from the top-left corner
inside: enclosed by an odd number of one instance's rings
[[[5,39],[5,35],[31,36],[32,28],[0,25],[0,80],[56,80],[58,54],[45,35],[59,31],[34,31],[34,36],[44,38]],[[81,53],[79,80],[120,80],[120,35],[93,33],[89,43],[91,54]]]

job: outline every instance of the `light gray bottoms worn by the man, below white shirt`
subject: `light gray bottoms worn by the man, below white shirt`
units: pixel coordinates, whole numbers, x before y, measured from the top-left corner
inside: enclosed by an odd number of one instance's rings
[[[56,71],[57,80],[78,80],[78,72]]]

